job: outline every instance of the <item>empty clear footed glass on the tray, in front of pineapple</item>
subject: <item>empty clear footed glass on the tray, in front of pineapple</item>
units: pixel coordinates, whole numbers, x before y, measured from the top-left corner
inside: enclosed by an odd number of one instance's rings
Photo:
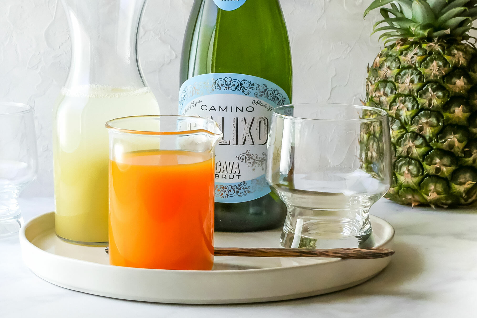
[[[267,180],[288,207],[291,248],[373,245],[369,209],[391,185],[384,110],[301,104],[273,110]]]

